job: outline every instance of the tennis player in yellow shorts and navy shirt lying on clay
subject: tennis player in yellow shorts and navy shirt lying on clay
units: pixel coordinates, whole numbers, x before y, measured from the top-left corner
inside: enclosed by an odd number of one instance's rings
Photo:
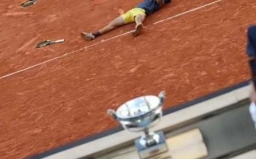
[[[100,35],[103,35],[104,33],[112,31],[114,28],[133,22],[136,23],[133,36],[138,36],[142,32],[143,20],[145,17],[151,15],[155,11],[158,11],[160,8],[170,2],[171,0],[143,0],[143,2],[140,3],[137,7],[127,11],[125,14],[119,16],[118,18],[115,18],[112,22],[106,25],[106,27],[93,33],[81,32],[81,36],[85,40],[90,41]]]

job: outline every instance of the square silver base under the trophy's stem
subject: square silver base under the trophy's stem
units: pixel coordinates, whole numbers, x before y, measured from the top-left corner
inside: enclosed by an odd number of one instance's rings
[[[172,159],[163,132],[156,132],[155,135],[158,136],[158,142],[150,146],[141,144],[142,139],[134,140],[139,157],[141,159]]]

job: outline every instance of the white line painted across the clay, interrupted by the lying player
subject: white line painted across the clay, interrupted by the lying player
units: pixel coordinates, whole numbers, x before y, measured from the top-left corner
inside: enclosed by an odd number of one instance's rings
[[[204,7],[207,7],[207,6],[210,6],[210,5],[214,5],[215,3],[218,3],[218,2],[220,2],[220,1],[224,1],[224,0],[214,1],[214,2],[208,3],[207,5],[203,5],[203,6],[200,6],[200,7],[193,8],[192,10],[182,12],[181,14],[177,14],[177,15],[171,16],[171,17],[169,17],[169,18],[167,18],[167,19],[159,20],[158,22],[155,22],[155,23],[153,23],[153,24],[162,23],[162,22],[165,22],[166,20],[176,18],[177,16],[181,16],[181,15],[187,14],[187,13],[189,13],[189,12],[193,12],[193,11],[196,11],[196,10],[200,10],[201,8],[204,8]],[[133,30],[133,31],[134,31],[134,30]],[[71,51],[70,53],[66,53],[66,54],[64,54],[64,55],[60,55],[59,57],[55,57],[55,58],[49,59],[49,60],[47,60],[47,61],[38,63],[38,64],[36,64],[36,65],[30,66],[30,67],[27,67],[27,68],[23,68],[22,70],[15,71],[15,72],[13,72],[13,73],[11,73],[11,74],[7,74],[7,75],[4,75],[4,76],[1,76],[0,79],[7,78],[7,77],[9,77],[9,76],[18,74],[19,72],[23,72],[23,71],[26,71],[26,70],[30,70],[31,68],[34,68],[34,67],[43,65],[44,63],[51,62],[51,61],[53,61],[53,60],[55,60],[55,59],[59,59],[59,58],[65,57],[66,55],[76,53],[77,51],[80,51],[80,50],[82,50],[82,49],[90,48],[90,47],[92,47],[92,46],[99,45],[99,44],[101,44],[101,43],[103,43],[103,42],[112,40],[112,39],[114,39],[114,38],[118,38],[118,37],[127,35],[127,34],[133,32],[133,31],[125,32],[125,33],[122,33],[121,35],[113,36],[113,37],[110,37],[110,38],[108,38],[108,39],[106,39],[106,40],[101,40],[100,42],[97,42],[97,43],[95,43],[95,44],[85,46],[84,48]]]

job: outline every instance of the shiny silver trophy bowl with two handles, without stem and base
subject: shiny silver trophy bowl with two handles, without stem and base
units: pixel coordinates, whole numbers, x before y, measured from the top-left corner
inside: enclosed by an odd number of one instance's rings
[[[117,111],[112,109],[108,113],[114,117],[122,127],[131,132],[148,132],[162,118],[162,106],[165,92],[158,96],[141,96],[133,98],[119,106]]]

